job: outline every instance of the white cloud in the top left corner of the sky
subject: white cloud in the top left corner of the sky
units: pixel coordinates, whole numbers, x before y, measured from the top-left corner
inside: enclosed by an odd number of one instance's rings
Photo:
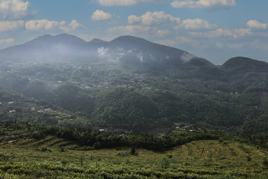
[[[28,6],[30,3],[23,0],[0,0],[0,19],[23,19],[30,15],[35,15],[37,12],[29,12]]]

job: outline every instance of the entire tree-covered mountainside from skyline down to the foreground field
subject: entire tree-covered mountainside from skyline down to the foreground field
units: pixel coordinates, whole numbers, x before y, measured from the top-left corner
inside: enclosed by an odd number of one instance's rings
[[[2,120],[136,133],[185,130],[183,126],[238,134],[268,131],[266,62],[235,57],[218,67],[141,38],[85,42],[68,34],[41,36],[1,54],[29,49],[46,52],[58,43],[72,48],[73,55],[75,49],[88,54],[63,61],[60,52],[51,52],[43,57],[47,62],[25,54],[22,61],[2,58]],[[99,53],[96,57],[92,49]],[[135,52],[127,53],[131,49]],[[15,101],[13,106],[7,104],[10,101]],[[51,111],[30,111],[33,106]],[[15,108],[16,112],[9,112]]]

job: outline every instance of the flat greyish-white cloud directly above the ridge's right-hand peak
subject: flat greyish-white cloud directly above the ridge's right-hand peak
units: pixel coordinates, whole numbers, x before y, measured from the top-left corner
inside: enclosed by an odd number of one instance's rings
[[[118,26],[118,27],[111,27],[108,29],[109,33],[117,33],[120,35],[151,35],[156,33],[156,27],[149,27],[143,25],[127,25],[127,26]]]

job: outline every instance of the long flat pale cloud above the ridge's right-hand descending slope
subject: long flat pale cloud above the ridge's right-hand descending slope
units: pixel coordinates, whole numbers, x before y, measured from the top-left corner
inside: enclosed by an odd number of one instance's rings
[[[247,35],[251,35],[251,29],[217,29],[207,32],[189,32],[192,36],[201,37],[201,38],[220,38],[220,37],[230,37],[230,38],[239,38]]]

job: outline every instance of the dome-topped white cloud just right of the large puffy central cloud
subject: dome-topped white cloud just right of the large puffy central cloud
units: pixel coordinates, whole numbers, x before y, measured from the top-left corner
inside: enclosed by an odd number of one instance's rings
[[[205,20],[196,18],[196,19],[187,19],[183,20],[180,25],[174,26],[175,30],[184,28],[186,30],[196,30],[196,29],[215,29],[217,28],[216,24],[210,24]]]

